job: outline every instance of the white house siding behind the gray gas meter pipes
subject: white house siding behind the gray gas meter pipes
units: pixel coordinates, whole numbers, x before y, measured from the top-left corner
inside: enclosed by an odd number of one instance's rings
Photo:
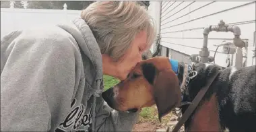
[[[199,54],[203,28],[218,25],[223,20],[241,28],[241,38],[249,44],[245,66],[255,65],[255,1],[162,1],[161,4],[160,44],[170,48],[173,59]],[[232,42],[234,35],[232,32],[210,32],[208,37],[210,56],[214,56],[217,48],[214,44]],[[231,55],[223,53],[222,47],[218,48],[216,63],[226,67],[227,57]]]

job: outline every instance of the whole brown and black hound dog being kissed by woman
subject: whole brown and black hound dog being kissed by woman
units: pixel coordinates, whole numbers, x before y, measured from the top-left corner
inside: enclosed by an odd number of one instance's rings
[[[156,104],[161,120],[175,107],[180,107],[184,113],[188,105],[181,105],[181,102],[191,102],[207,79],[220,71],[185,122],[185,130],[256,131],[255,65],[222,69],[215,64],[197,63],[192,69],[197,75],[185,85],[187,67],[179,63],[175,73],[167,57],[141,61],[127,79],[103,92],[102,97],[110,107],[120,111],[135,112]]]

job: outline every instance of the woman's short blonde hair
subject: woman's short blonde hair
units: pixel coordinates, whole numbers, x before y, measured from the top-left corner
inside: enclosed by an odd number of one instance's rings
[[[102,54],[115,61],[123,57],[137,35],[145,30],[150,47],[156,37],[154,20],[136,1],[96,1],[82,11]]]

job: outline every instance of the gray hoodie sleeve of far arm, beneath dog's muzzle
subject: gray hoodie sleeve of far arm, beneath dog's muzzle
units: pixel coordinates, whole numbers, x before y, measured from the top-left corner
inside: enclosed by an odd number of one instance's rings
[[[95,131],[132,131],[138,112],[118,112],[104,102],[102,96],[96,99]]]

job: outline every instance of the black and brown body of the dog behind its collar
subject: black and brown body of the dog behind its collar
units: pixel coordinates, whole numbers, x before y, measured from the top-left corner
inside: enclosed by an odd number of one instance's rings
[[[183,67],[184,65],[179,63],[181,71]],[[219,123],[219,125],[216,124],[217,126],[215,127],[220,127],[220,130],[256,131],[256,127],[254,126],[256,123],[255,68],[255,65],[253,65],[241,69],[236,69],[235,67],[222,69],[222,67],[214,64],[195,64],[193,70],[197,71],[197,76],[189,81],[188,88],[183,94],[183,101],[191,102],[199,90],[205,86],[206,81],[217,71],[222,70],[212,83],[212,87],[206,92],[199,106],[197,106],[198,108],[185,123],[185,129],[194,128],[195,130],[199,130],[198,127],[203,126],[197,126],[196,128],[191,125],[195,125],[198,121],[197,119],[204,117],[205,119],[201,119],[199,123],[205,121],[205,124],[208,122],[212,123],[209,124],[210,126],[213,126],[214,122],[208,121],[208,119],[216,119],[216,123]],[[182,80],[183,77],[180,77],[180,79]],[[211,99],[213,100],[212,102]],[[216,106],[216,109],[210,110],[213,106]],[[187,106],[182,106],[181,108],[184,113]],[[207,112],[207,110],[211,112]],[[213,112],[214,110],[216,110],[216,113]],[[199,117],[196,118],[195,113]],[[201,115],[200,117],[199,114],[205,113],[207,115]],[[218,118],[213,117],[214,114],[218,115]],[[205,125],[205,127],[209,126]]]

